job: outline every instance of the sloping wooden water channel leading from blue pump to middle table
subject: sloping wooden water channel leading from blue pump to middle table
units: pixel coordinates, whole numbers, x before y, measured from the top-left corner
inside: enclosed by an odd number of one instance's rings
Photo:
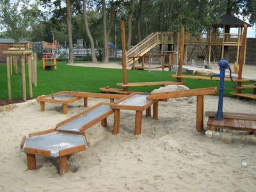
[[[193,90],[183,90],[177,92],[150,93],[147,100],[170,99],[177,97],[191,97],[197,95],[213,95],[217,92],[216,87],[198,88]]]

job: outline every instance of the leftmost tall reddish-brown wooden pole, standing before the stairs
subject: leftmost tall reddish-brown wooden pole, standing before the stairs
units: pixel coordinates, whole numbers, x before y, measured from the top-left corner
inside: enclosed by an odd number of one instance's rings
[[[128,80],[127,80],[127,72],[126,72],[126,51],[125,51],[125,27],[124,27],[124,20],[121,21],[120,24],[120,28],[121,28],[121,41],[122,41],[122,66],[123,66],[123,83],[127,84]],[[124,91],[127,91],[128,88],[124,87]]]

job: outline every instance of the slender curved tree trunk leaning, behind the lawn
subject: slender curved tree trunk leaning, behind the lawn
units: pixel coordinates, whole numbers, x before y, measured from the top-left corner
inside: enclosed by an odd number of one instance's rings
[[[91,45],[91,52],[92,52],[92,63],[97,63],[97,58],[95,56],[95,49],[94,49],[94,42],[93,42],[93,37],[92,34],[90,33],[89,25],[88,25],[88,19],[87,19],[87,12],[86,12],[86,0],[83,0],[83,11],[84,11],[84,26],[86,30],[86,35],[88,36],[90,40],[90,45]]]

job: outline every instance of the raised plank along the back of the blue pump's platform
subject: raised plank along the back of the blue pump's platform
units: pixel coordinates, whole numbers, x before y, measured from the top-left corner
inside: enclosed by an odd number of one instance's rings
[[[216,116],[216,111],[206,111],[205,116]],[[256,114],[252,113],[230,113],[224,112],[224,118],[236,118],[236,119],[243,119],[243,120],[256,120]]]

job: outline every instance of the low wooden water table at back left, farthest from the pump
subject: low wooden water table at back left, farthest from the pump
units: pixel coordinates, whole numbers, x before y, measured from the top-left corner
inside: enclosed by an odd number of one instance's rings
[[[36,100],[40,102],[41,111],[45,111],[45,102],[60,103],[63,106],[63,114],[68,113],[68,104],[76,100],[80,100],[81,97],[75,96],[77,92],[63,91],[52,93],[49,95],[44,95],[37,97]],[[87,99],[84,99],[84,106],[87,106]]]

